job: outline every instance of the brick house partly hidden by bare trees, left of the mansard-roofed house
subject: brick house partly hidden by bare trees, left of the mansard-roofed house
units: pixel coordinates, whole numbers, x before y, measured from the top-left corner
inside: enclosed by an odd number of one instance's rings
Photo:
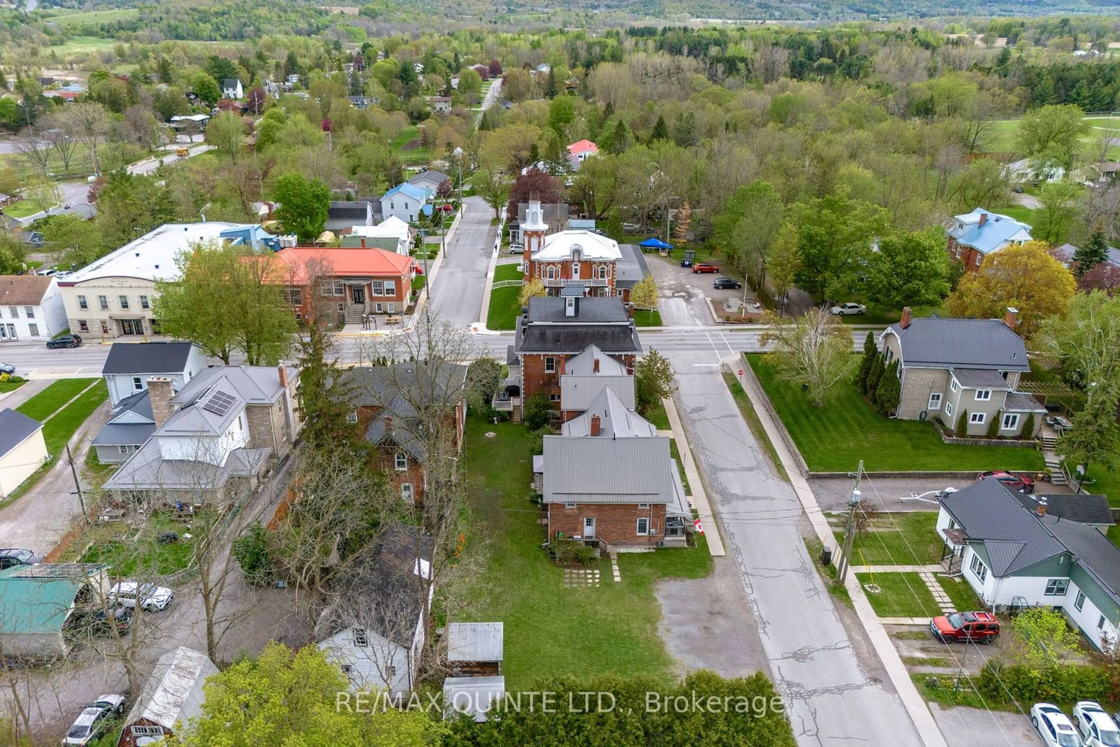
[[[345,372],[354,410],[347,415],[376,447],[375,468],[396,486],[401,498],[423,501],[428,486],[428,437],[448,438],[463,448],[466,427],[467,367],[416,362],[355,366]],[[438,413],[442,433],[424,431]]]

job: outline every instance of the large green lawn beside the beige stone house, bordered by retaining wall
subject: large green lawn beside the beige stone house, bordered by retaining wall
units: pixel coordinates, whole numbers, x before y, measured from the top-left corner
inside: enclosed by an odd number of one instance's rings
[[[855,384],[839,384],[836,395],[815,408],[763,355],[747,360],[812,471],[850,471],[860,459],[868,471],[1043,468],[1042,454],[1034,449],[951,446],[942,442],[932,423],[884,418],[867,405]]]

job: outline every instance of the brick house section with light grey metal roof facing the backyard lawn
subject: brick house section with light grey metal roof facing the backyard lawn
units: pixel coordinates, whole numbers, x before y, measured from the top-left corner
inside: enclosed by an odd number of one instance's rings
[[[544,437],[543,461],[550,538],[684,547],[692,512],[669,439],[609,387]]]

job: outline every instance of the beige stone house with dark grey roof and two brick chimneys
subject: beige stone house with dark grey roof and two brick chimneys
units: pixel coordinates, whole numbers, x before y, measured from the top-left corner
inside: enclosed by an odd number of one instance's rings
[[[992,420],[998,435],[1033,438],[1046,413],[1037,400],[1017,391],[1019,376],[1030,371],[1027,348],[1015,332],[1018,311],[1009,308],[1004,320],[911,317],[879,336],[889,365],[898,361],[900,395],[896,417],[925,420],[936,417],[955,429],[968,412],[969,436],[984,436]],[[1034,414],[1032,432],[1024,433]]]

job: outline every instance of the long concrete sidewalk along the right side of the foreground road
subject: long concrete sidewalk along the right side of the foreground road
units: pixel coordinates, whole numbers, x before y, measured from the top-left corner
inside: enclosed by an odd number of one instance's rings
[[[740,360],[739,355],[732,355],[725,358],[724,363],[727,364],[731,371],[737,371]],[[796,461],[794,460],[793,455],[790,454],[790,450],[785,446],[785,441],[778,433],[778,424],[774,422],[774,420],[769,417],[769,412],[763,405],[762,398],[764,394],[759,392],[745,376],[738,376],[738,380],[744,391],[746,391],[747,396],[750,399],[750,404],[754,405],[758,420],[762,422],[771,443],[773,443],[778,459],[785,467],[786,473],[788,473],[790,483],[793,485],[797,499],[801,502],[802,510],[805,512],[805,515],[809,516],[809,521],[812,523],[813,531],[815,532],[818,539],[820,539],[825,547],[836,548],[836,538],[832,535],[832,527],[829,526],[828,520],[821,512],[820,506],[816,505],[816,498],[813,496],[813,492],[809,488],[809,483],[806,483],[805,478],[797,471]],[[844,587],[851,596],[852,607],[859,616],[860,622],[864,624],[864,628],[867,631],[867,635],[870,638],[871,644],[879,654],[879,660],[883,662],[883,666],[887,671],[890,682],[898,692],[898,698],[902,700],[903,707],[906,709],[911,720],[914,722],[914,728],[921,737],[922,743],[926,745],[926,747],[948,747],[945,738],[941,735],[936,722],[933,720],[933,716],[930,713],[930,709],[926,707],[925,701],[918,693],[917,688],[914,687],[914,681],[911,680],[909,672],[906,670],[906,665],[903,664],[902,657],[898,655],[898,651],[890,642],[890,636],[887,635],[886,628],[883,627],[883,620],[875,614],[875,610],[871,609],[871,605],[867,600],[867,596],[864,594],[864,587],[860,586],[855,573],[848,575]]]

